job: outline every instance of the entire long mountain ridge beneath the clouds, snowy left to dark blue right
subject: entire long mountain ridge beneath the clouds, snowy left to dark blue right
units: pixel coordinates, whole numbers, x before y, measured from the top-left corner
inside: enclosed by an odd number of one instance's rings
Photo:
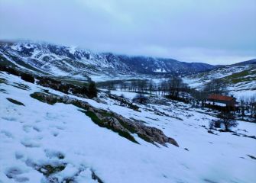
[[[53,75],[190,74],[215,68],[206,63],[184,63],[175,59],[93,53],[76,47],[29,41],[1,43],[0,56],[27,69]]]

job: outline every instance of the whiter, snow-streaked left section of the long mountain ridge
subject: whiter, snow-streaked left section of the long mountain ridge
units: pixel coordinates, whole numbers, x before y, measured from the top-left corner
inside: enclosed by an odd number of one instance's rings
[[[6,62],[11,61],[20,67],[73,78],[130,72],[128,66],[118,63],[115,58],[109,62],[104,54],[49,43],[2,43],[0,55]]]

